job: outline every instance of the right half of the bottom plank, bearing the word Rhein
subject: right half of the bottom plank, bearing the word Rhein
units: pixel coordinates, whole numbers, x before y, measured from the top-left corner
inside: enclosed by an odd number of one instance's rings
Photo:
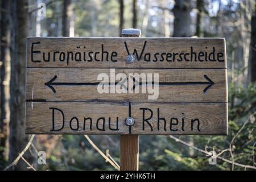
[[[131,103],[131,134],[228,135],[227,113],[227,103]]]

